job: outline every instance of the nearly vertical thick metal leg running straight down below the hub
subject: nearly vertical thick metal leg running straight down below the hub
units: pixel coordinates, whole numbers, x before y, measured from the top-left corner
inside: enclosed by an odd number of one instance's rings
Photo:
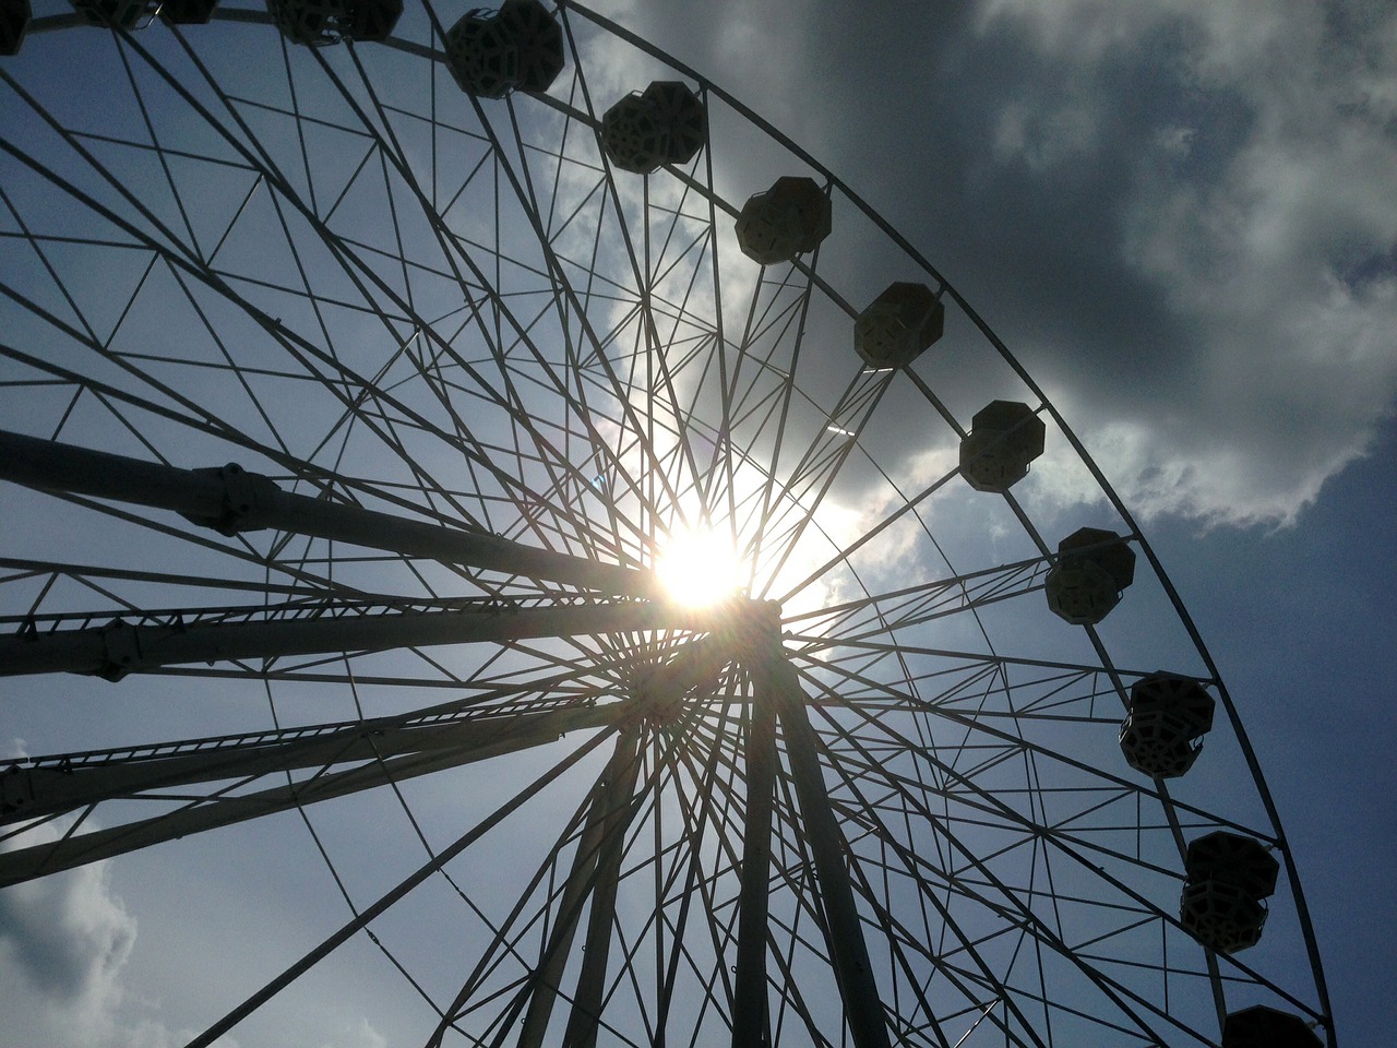
[[[743,748],[747,810],[742,830],[742,896],[738,901],[738,971],[732,998],[732,1048],[763,1048],[767,1030],[767,915],[771,886],[771,802],[777,771],[775,708],[752,700]]]

